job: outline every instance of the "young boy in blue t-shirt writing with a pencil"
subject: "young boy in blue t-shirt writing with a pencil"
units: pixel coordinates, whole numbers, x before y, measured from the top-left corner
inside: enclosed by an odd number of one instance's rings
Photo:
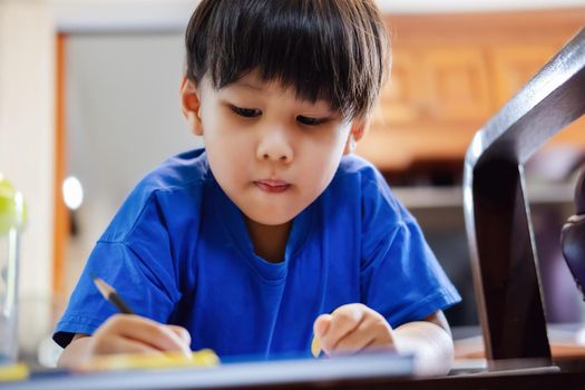
[[[53,339],[107,353],[415,351],[452,357],[459,301],[413,217],[351,153],[389,43],[371,0],[204,0],[186,31],[183,113],[205,149],[147,175],[98,241]],[[391,153],[389,150],[389,153]],[[138,315],[117,314],[91,275]]]

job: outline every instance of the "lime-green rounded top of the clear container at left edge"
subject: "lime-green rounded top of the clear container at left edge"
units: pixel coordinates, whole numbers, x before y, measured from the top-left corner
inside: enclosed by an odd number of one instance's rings
[[[27,205],[21,193],[0,174],[0,235],[11,228],[21,231],[27,223]]]

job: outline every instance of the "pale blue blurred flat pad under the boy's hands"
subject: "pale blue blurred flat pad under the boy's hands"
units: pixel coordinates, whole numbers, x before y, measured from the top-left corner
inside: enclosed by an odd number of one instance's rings
[[[143,365],[144,367],[144,365]],[[223,389],[290,387],[308,383],[357,382],[409,378],[412,355],[372,353],[334,359],[281,359],[226,362],[214,367],[182,367],[107,372],[45,371],[6,389]]]

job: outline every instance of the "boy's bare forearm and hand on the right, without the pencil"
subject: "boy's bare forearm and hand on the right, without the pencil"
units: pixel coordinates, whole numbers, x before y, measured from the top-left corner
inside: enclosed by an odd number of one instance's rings
[[[448,373],[454,357],[451,332],[441,311],[392,329],[377,311],[361,303],[345,304],[320,315],[314,333],[330,355],[384,349],[413,353],[421,376]]]

